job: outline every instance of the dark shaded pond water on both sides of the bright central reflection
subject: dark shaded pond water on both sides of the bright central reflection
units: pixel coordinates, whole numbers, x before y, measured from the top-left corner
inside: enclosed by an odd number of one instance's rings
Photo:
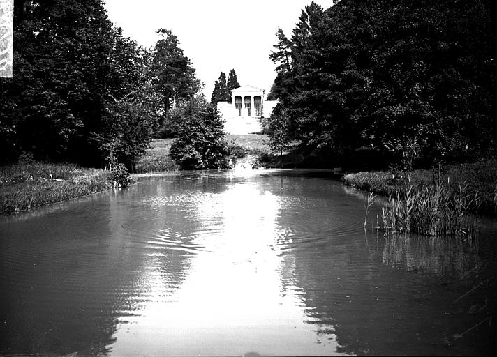
[[[151,290],[167,299],[184,284],[202,250],[192,237],[218,233],[202,223],[212,217],[199,203],[215,203],[234,183],[278,202],[271,224],[279,294],[297,294],[316,343],[336,341],[336,352],[357,355],[494,351],[488,324],[453,336],[495,314],[495,234],[467,241],[365,234],[364,195],[329,171],[254,175],[143,178],[93,201],[1,221],[0,354],[112,352],[118,326],[140,316]]]

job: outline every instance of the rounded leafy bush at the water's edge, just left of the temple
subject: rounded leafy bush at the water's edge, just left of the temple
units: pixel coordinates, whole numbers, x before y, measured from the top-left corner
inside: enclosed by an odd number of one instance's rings
[[[203,96],[197,96],[178,109],[181,126],[170,149],[171,158],[181,169],[228,167],[224,122],[216,108]]]

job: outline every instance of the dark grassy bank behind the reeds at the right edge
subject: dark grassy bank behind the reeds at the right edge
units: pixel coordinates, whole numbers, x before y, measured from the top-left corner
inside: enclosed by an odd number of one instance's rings
[[[432,170],[414,170],[410,184],[414,191],[430,187],[438,172]],[[355,188],[368,190],[384,196],[396,196],[403,190],[403,180],[394,178],[392,172],[357,172],[343,176],[343,181]],[[447,183],[452,192],[459,192],[460,186],[466,186],[466,195],[477,194],[480,205],[478,211],[489,215],[496,214],[497,160],[474,162],[461,165],[448,165],[440,172],[440,181]]]

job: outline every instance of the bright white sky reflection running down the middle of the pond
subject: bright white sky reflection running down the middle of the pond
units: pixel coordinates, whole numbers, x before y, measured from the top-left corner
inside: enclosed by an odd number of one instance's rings
[[[192,219],[201,222],[191,245],[201,248],[195,252],[188,276],[168,296],[164,277],[144,271],[141,289],[150,296],[140,307],[140,316],[119,328],[114,353],[140,354],[150,351],[152,344],[173,355],[232,355],[254,349],[262,354],[283,350],[332,354],[336,350],[333,340],[316,344],[311,326],[302,324],[305,304],[299,289],[286,287],[285,294],[281,293],[282,261],[274,241],[279,197],[251,183],[232,185],[218,195],[189,197],[195,209]],[[216,234],[209,234],[212,231]],[[147,265],[154,264],[149,261]],[[315,346],[313,351],[309,345]],[[150,353],[160,355],[161,348]]]

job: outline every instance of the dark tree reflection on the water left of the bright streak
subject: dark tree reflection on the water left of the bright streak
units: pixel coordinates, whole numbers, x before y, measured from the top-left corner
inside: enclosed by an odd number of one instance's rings
[[[152,289],[167,298],[179,287],[191,254],[158,243],[188,227],[172,223],[174,207],[137,204],[157,186],[0,226],[9,238],[0,241],[0,354],[108,354],[117,326],[140,314]]]

